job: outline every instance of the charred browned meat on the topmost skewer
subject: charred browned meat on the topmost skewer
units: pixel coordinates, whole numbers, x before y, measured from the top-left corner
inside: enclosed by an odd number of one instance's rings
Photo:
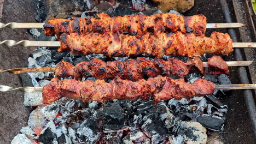
[[[115,33],[120,32],[130,35],[143,35],[147,32],[158,31],[195,33],[204,35],[206,31],[206,17],[203,15],[181,16],[174,13],[159,13],[147,15],[125,15],[110,17],[107,14],[97,14],[97,17],[85,18],[72,17],[71,20],[47,20],[44,25],[45,35],[53,36],[61,33]]]

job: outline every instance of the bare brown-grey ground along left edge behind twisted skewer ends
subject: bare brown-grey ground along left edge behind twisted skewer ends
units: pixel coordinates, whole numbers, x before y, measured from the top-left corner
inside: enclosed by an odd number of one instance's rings
[[[4,1],[3,17],[0,22],[35,22],[33,1]],[[0,29],[0,40],[32,40],[26,29]],[[0,68],[19,68],[27,66],[28,55],[33,51],[33,47],[14,46],[7,47],[0,45]],[[1,73],[0,85],[20,87],[21,79],[19,75]],[[10,143],[13,137],[19,134],[21,127],[27,124],[30,107],[23,104],[23,93],[21,92],[1,92],[0,97],[0,143]]]

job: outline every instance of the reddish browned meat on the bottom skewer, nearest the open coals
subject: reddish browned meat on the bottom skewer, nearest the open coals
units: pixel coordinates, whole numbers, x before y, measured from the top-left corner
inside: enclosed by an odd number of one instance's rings
[[[173,80],[170,77],[154,77],[147,81],[137,82],[121,80],[116,77],[109,83],[104,80],[77,81],[74,79],[59,80],[54,78],[49,85],[43,87],[43,102],[49,104],[61,97],[82,99],[101,103],[113,99],[143,100],[153,97],[155,103],[166,99],[191,98],[204,96],[214,92],[214,83],[199,79],[187,83],[183,79]]]

